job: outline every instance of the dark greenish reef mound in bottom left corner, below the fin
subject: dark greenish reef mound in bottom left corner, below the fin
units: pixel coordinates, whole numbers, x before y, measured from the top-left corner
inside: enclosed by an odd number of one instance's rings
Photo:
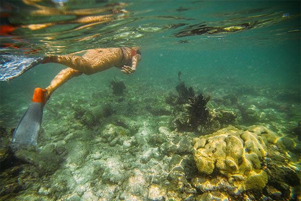
[[[43,178],[53,175],[67,154],[61,143],[50,143],[40,150],[32,146],[12,145],[11,134],[2,128],[1,132],[1,186],[2,200],[32,199],[39,197],[50,200],[47,196],[37,193],[38,183],[43,183]],[[62,184],[63,185],[63,184]],[[56,186],[57,187],[57,186]],[[31,191],[19,195],[26,189]],[[56,189],[62,190],[62,189]],[[55,191],[52,191],[55,193]],[[58,196],[58,194],[54,195]]]

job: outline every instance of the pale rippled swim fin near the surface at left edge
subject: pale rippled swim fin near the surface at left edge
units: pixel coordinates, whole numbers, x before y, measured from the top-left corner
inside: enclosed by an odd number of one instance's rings
[[[18,77],[30,68],[38,65],[43,57],[25,57],[15,55],[1,55],[0,81],[7,81]]]

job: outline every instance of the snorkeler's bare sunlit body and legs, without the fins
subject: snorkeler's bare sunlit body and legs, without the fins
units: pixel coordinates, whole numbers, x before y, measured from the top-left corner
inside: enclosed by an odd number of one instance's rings
[[[109,69],[113,66],[121,68],[121,71],[130,74],[135,71],[137,62],[141,56],[135,47],[99,48],[75,52],[70,55],[49,56],[43,63],[60,63],[68,68],[60,71],[50,85],[46,88],[46,99],[63,83],[81,75],[90,75]]]

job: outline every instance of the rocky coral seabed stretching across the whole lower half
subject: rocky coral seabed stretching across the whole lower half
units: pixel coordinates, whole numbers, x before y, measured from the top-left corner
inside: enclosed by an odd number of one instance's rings
[[[273,95],[249,86],[241,93],[232,86],[202,87],[212,96],[210,118],[194,130],[175,124],[178,114],[188,126],[189,97],[180,104],[176,90],[138,81],[122,96],[99,85],[85,86],[89,93],[58,91],[45,106],[36,149],[12,152],[7,145],[16,119],[12,124],[11,116],[0,114],[4,125],[12,125],[0,128],[0,199],[299,200],[298,105],[282,107]],[[252,105],[261,126],[246,127],[242,116]],[[193,150],[202,143],[197,150],[211,158],[199,171]]]

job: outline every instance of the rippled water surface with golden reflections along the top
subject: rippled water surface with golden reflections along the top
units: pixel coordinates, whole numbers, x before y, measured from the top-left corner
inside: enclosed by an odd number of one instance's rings
[[[18,8],[22,4],[24,7],[20,13]],[[158,45],[166,47],[183,41],[190,43],[189,47],[194,49],[203,44],[202,39],[210,40],[212,37],[216,37],[209,41],[212,46],[220,39],[244,45],[250,45],[249,40],[252,43],[272,43],[275,40],[298,39],[300,16],[288,13],[293,5],[283,3],[271,7],[265,2],[260,5],[229,2],[226,9],[220,10],[223,4],[95,2],[81,8],[80,2],[76,1],[4,2],[2,15],[5,18],[2,21],[10,24],[2,28],[2,53],[62,54],[87,49],[87,46],[96,48],[135,43],[158,48]],[[277,10],[280,5],[283,5],[281,12]],[[271,29],[273,26],[277,29]],[[235,33],[234,38],[229,36],[231,33]],[[157,39],[155,43],[154,38]]]

